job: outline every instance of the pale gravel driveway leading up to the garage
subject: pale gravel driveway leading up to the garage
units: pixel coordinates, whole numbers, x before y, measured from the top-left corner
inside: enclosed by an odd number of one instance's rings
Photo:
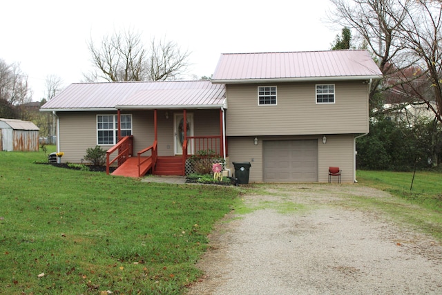
[[[189,294],[442,294],[442,246],[349,196],[358,184],[269,185],[211,235]]]

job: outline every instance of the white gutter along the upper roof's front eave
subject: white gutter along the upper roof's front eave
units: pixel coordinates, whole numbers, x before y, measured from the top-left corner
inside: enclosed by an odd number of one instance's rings
[[[256,79],[212,79],[213,84],[247,84],[247,83],[286,83],[286,82],[324,82],[324,81],[358,81],[381,79],[382,75],[334,76],[334,77],[288,77]]]

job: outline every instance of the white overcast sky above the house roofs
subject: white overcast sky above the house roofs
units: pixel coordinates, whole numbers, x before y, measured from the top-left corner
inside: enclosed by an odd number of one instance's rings
[[[189,79],[210,76],[221,53],[328,50],[340,32],[325,22],[329,0],[10,0],[0,4],[0,59],[19,62],[33,101],[45,79],[64,86],[92,68],[87,42],[115,30],[175,41],[191,52]]]

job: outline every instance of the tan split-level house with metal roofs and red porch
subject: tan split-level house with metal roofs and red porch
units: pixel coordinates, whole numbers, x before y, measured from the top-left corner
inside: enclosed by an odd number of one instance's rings
[[[327,182],[329,166],[354,182],[381,77],[366,50],[223,54],[211,81],[71,84],[41,111],[57,116],[68,162],[98,144],[110,164],[137,161],[138,175],[184,174],[189,155],[210,149],[231,170],[250,162],[251,182]]]

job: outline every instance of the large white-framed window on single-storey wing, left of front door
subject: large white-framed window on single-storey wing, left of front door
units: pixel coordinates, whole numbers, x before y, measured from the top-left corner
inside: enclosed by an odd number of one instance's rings
[[[120,115],[122,136],[132,135],[132,115]],[[117,115],[97,115],[97,144],[117,144]]]

